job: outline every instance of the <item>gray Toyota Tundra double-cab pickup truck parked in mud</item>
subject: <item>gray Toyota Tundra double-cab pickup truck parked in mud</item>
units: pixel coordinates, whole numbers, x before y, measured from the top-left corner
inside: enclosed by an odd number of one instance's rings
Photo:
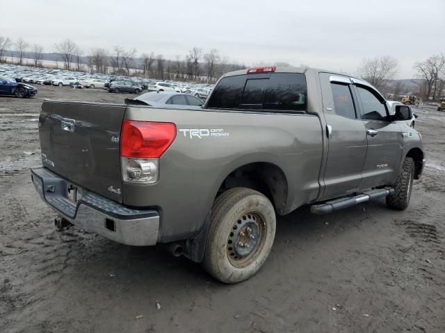
[[[162,243],[234,283],[264,264],[276,214],[385,197],[404,210],[425,162],[411,118],[364,80],[255,67],[220,78],[202,110],[44,101],[31,177],[58,227]]]

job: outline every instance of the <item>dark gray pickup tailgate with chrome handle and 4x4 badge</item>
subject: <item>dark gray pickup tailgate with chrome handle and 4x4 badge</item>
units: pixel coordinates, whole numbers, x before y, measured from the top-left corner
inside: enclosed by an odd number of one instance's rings
[[[44,101],[42,164],[74,186],[122,203],[120,130],[125,105]]]

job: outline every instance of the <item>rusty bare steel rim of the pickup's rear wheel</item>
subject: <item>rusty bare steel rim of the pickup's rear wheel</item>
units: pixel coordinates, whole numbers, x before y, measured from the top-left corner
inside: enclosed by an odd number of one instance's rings
[[[264,248],[267,225],[259,212],[247,212],[235,221],[227,238],[227,257],[236,268],[252,264]]]

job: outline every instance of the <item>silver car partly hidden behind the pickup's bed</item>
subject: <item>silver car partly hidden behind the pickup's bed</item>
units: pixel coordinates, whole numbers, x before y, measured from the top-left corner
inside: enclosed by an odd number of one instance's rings
[[[142,102],[142,103],[141,103]],[[193,95],[180,92],[146,92],[135,99],[125,99],[125,103],[150,105],[156,108],[177,108],[181,106],[187,109],[201,109],[204,103]]]

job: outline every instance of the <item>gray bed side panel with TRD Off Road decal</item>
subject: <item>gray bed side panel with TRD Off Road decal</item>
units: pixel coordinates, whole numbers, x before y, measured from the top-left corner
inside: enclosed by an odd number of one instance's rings
[[[269,162],[284,171],[285,212],[318,194],[323,146],[316,116],[131,107],[124,118],[177,126],[175,141],[159,161],[159,182],[122,187],[124,204],[160,211],[160,241],[199,231],[223,180],[245,164]]]

